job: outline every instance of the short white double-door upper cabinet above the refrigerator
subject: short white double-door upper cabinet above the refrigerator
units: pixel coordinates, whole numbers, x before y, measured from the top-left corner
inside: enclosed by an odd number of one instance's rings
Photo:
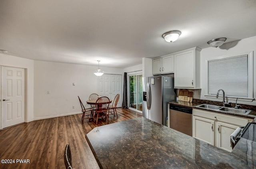
[[[174,55],[167,55],[152,61],[153,75],[173,73]]]

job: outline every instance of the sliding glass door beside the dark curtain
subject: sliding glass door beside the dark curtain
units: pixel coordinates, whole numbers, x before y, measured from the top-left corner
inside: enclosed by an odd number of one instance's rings
[[[129,106],[142,111],[142,75],[129,76]]]

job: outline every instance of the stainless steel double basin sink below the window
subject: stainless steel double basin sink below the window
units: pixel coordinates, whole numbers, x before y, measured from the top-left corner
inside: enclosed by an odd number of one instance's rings
[[[235,114],[243,114],[243,115],[248,115],[251,112],[251,110],[222,107],[222,106],[216,106],[216,105],[212,105],[212,104],[200,104],[196,107],[206,108],[209,110],[230,112],[230,113],[235,113]]]

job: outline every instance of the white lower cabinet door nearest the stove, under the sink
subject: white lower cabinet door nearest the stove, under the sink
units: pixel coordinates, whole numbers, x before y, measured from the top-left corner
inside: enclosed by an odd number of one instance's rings
[[[238,126],[222,122],[216,122],[216,125],[216,146],[231,152],[232,147],[230,147],[230,135],[236,130],[236,128],[238,128]]]

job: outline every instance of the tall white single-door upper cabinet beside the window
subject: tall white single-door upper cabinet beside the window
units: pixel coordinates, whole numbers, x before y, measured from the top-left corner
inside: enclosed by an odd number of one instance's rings
[[[200,88],[200,51],[198,47],[174,54],[174,88]]]

